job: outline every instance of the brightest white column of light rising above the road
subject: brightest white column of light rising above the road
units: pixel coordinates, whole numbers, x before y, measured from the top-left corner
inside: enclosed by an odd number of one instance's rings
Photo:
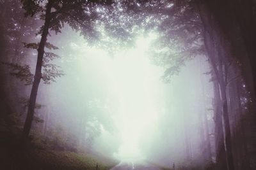
[[[143,135],[150,125],[157,124],[156,89],[159,82],[157,67],[147,56],[150,38],[138,38],[136,48],[118,53],[111,60],[108,72],[120,102],[116,125],[122,144],[115,153],[118,159],[144,159],[140,151]],[[159,69],[159,68],[158,68]]]

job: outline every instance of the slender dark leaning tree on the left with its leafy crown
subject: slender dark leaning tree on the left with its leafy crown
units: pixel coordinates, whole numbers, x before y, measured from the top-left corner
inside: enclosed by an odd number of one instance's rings
[[[109,5],[111,1],[32,1],[32,0],[22,0],[23,8],[26,10],[25,15],[31,16],[36,13],[41,13],[41,18],[44,20],[44,25],[42,25],[40,32],[41,35],[40,43],[29,44],[35,45],[38,51],[35,76],[33,78],[33,85],[31,89],[31,94],[29,97],[28,113],[26,117],[26,122],[23,129],[23,138],[26,139],[29,136],[29,131],[31,129],[31,124],[33,121],[33,115],[35,110],[36,96],[38,93],[38,87],[40,80],[54,80],[56,76],[60,74],[50,74],[49,77],[44,77],[42,74],[42,66],[44,65],[45,59],[45,46],[49,45],[50,48],[56,48],[56,46],[51,45],[47,42],[47,36],[49,36],[49,31],[54,31],[56,34],[61,32],[61,27],[65,24],[70,25],[73,29],[81,31],[88,40],[97,39],[97,30],[93,27],[95,20],[99,18],[97,15],[97,7]],[[54,54],[51,54],[54,57]]]

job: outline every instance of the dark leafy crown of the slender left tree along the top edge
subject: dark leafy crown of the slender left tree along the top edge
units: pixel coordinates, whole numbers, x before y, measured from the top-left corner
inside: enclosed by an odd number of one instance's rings
[[[99,32],[95,29],[95,21],[100,18],[97,9],[106,8],[110,6],[113,1],[97,0],[97,1],[68,1],[58,0],[49,1],[54,8],[51,12],[51,25],[50,30],[61,32],[61,28],[65,24],[70,25],[72,29],[81,31],[88,41],[97,39]],[[44,19],[45,1],[29,1],[22,0],[23,8],[26,10],[26,15],[33,16],[35,13],[40,13],[41,18]],[[42,28],[38,34],[42,33]]]

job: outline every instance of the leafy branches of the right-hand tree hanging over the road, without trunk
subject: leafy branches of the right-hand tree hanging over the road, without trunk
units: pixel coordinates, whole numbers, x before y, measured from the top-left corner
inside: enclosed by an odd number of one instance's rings
[[[146,31],[161,32],[150,48],[152,60],[166,71],[168,82],[186,60],[204,55],[202,24],[193,1],[122,1],[133,17],[140,18]],[[138,23],[137,23],[138,24]],[[140,24],[138,24],[140,25]]]

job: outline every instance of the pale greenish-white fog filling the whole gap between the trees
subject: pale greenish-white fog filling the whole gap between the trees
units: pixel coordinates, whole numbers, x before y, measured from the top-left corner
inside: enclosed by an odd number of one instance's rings
[[[61,58],[54,62],[65,76],[51,85],[41,83],[38,93],[44,105],[39,112],[50,117],[47,131],[62,129],[57,133],[72,134],[79,148],[122,162],[170,166],[200,160],[205,122],[207,134],[213,131],[212,83],[204,56],[188,60],[165,82],[165,68],[150,53],[156,32],[141,34],[134,46],[112,55],[89,46],[72,29],[63,32],[67,36],[50,41],[60,48]]]

